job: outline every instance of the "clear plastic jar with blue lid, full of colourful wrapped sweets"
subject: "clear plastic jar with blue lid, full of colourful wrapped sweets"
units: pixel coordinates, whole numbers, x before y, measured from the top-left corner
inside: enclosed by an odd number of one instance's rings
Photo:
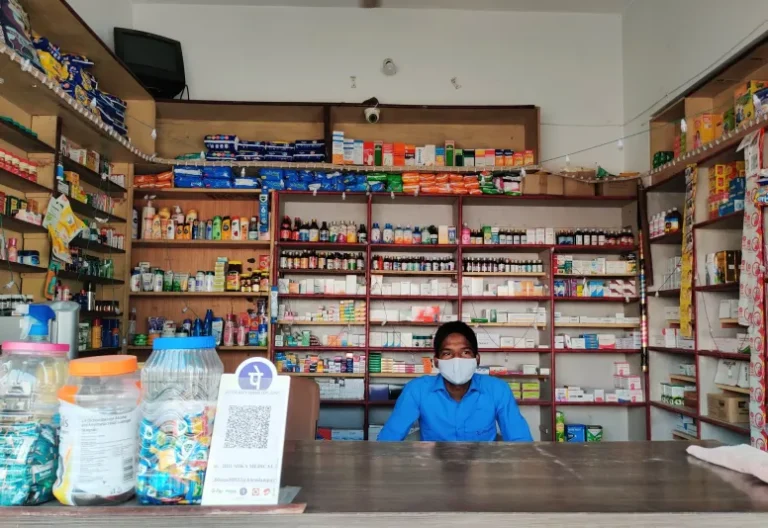
[[[224,365],[213,337],[162,337],[141,370],[136,496],[200,504]]]

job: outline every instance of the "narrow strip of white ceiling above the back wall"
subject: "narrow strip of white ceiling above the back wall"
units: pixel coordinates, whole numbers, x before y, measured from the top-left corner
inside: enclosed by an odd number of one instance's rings
[[[634,0],[380,0],[381,7],[621,14]],[[135,4],[359,7],[361,0],[133,0]]]

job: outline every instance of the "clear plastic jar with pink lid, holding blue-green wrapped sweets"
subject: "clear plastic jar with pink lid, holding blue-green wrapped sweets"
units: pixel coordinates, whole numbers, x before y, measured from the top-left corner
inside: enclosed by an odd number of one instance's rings
[[[59,456],[58,390],[69,345],[6,341],[0,357],[0,506],[53,498]]]

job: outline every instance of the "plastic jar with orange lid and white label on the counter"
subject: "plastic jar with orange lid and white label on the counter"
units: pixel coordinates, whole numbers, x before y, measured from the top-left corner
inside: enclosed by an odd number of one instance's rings
[[[136,356],[69,362],[69,379],[59,390],[59,469],[53,486],[59,502],[107,505],[133,496],[140,399]]]

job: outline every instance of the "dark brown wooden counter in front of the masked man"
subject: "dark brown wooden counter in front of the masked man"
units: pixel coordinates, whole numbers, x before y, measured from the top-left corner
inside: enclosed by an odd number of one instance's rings
[[[0,510],[0,526],[768,526],[768,485],[699,462],[688,445],[291,443],[282,485],[302,490],[279,515],[49,505]]]

